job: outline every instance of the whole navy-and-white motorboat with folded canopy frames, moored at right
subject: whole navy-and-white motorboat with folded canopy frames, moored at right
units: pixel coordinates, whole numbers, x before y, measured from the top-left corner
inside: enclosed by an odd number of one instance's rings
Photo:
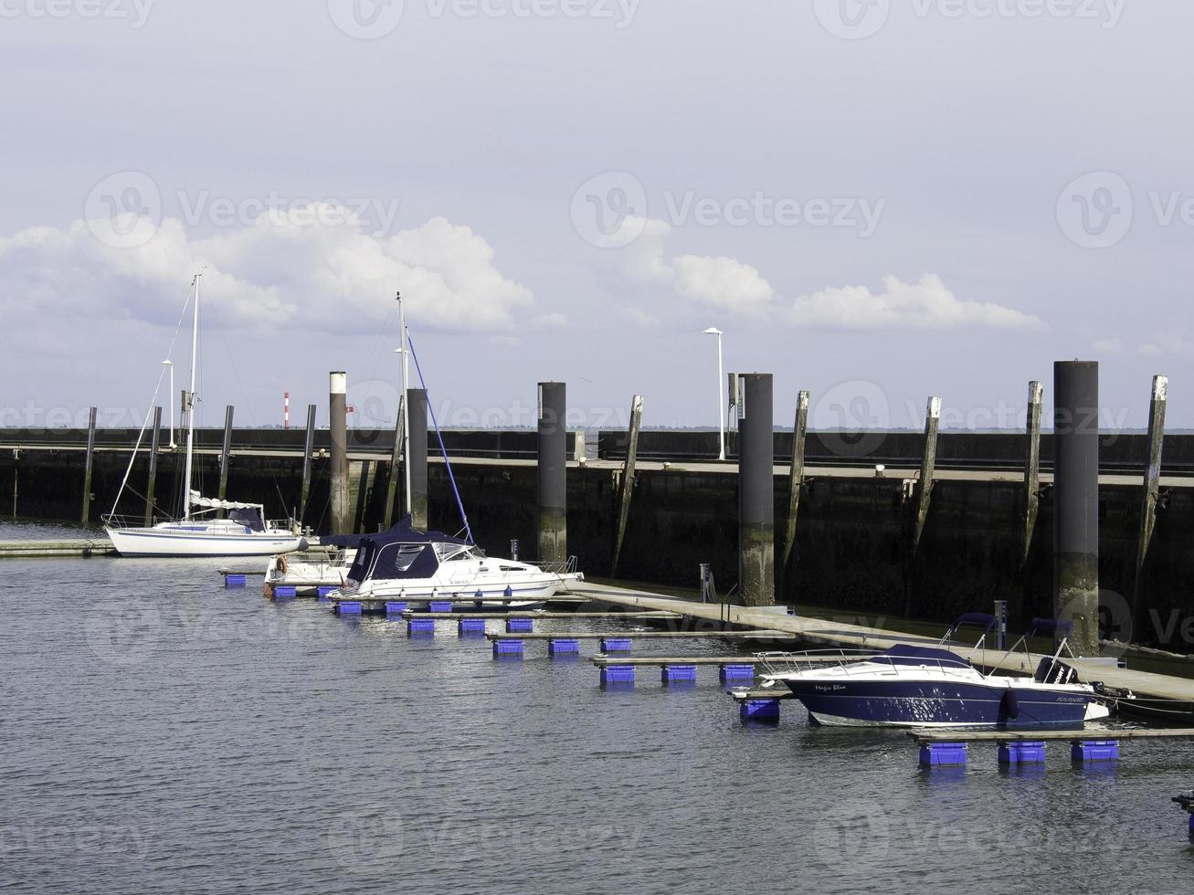
[[[959,628],[985,624],[973,648],[981,649],[995,623],[995,616],[968,613],[935,646],[897,643],[878,653],[759,654],[763,686],[786,685],[814,723],[832,727],[1078,728],[1109,715],[1097,686],[1078,683],[1064,661],[1065,637],[1053,654],[1041,656],[1032,678],[984,674],[967,655],[947,648]],[[1001,655],[1021,643],[1027,649],[1028,637],[1050,625],[1058,623],[1034,619],[1029,634]]]

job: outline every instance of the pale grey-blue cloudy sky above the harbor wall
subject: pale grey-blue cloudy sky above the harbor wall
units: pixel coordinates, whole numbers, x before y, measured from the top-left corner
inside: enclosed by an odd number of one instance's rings
[[[0,0],[0,426],[1194,426],[1183,0]],[[189,311],[187,311],[189,313]],[[168,411],[167,411],[168,413]]]

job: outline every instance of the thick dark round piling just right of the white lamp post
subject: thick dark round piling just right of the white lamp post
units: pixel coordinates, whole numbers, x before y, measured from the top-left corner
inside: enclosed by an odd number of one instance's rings
[[[775,434],[771,374],[739,377],[738,590],[744,606],[775,605]]]

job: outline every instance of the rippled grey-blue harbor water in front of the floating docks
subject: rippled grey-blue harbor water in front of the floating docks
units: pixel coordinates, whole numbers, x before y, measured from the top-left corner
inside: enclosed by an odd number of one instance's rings
[[[0,537],[78,537],[5,525]],[[259,562],[264,567],[264,561]],[[245,561],[238,561],[245,564]],[[1192,746],[928,772],[900,733],[745,726],[716,681],[345,619],[219,560],[14,560],[0,624],[0,890],[1188,891]],[[498,630],[491,621],[490,630]],[[536,630],[624,630],[549,619]],[[639,654],[746,652],[715,638]],[[581,652],[596,652],[583,641]]]

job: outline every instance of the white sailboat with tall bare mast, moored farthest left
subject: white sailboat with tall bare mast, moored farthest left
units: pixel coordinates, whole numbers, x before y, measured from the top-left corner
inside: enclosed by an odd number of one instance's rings
[[[116,495],[112,513],[104,517],[104,529],[112,547],[122,556],[269,556],[270,554],[302,550],[306,539],[291,527],[266,523],[261,504],[240,504],[232,500],[204,498],[192,489],[195,468],[195,371],[199,351],[199,290],[202,273],[191,284],[193,301],[191,321],[191,388],[186,393],[183,413],[186,415],[186,459],[183,473],[183,518],[168,519],[152,526],[127,525],[116,516],[124,484]],[[144,430],[142,428],[142,434]],[[140,446],[140,438],[137,445]],[[129,469],[136,458],[134,450]],[[128,482],[125,473],[124,482]],[[198,512],[196,512],[196,510]],[[227,519],[210,516],[226,511]]]

